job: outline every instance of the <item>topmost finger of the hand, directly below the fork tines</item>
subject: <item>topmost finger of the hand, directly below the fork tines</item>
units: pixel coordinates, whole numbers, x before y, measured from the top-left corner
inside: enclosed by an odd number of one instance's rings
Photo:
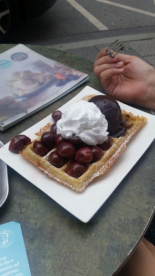
[[[99,59],[96,59],[94,62],[94,67],[105,63],[115,63],[119,61],[123,61],[124,64],[128,64],[131,61],[131,56],[125,54],[118,54],[115,58],[112,59],[111,57],[106,55],[100,57]]]

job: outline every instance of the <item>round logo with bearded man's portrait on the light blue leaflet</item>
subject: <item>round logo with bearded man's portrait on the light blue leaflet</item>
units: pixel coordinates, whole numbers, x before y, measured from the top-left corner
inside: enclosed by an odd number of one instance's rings
[[[0,232],[0,247],[8,247],[12,244],[14,241],[14,233],[9,230],[5,229]]]

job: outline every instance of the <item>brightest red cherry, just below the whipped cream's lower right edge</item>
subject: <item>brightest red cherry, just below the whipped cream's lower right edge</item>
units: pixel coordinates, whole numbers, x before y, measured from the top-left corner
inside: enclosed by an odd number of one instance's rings
[[[82,147],[75,154],[75,160],[81,163],[89,163],[92,159],[93,153],[89,147]]]

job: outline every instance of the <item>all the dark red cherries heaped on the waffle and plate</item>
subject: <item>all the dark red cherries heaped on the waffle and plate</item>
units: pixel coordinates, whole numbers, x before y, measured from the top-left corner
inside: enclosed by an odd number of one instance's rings
[[[111,140],[108,138],[101,145],[90,146],[82,142],[77,136],[64,139],[61,134],[56,134],[56,122],[61,119],[61,115],[62,112],[59,110],[52,113],[52,119],[55,123],[51,125],[50,131],[42,134],[41,141],[36,140],[33,143],[33,151],[40,156],[45,156],[56,146],[57,149],[51,152],[49,156],[49,162],[56,168],[61,168],[68,160],[73,160],[66,173],[78,178],[86,171],[88,163],[99,160],[102,156],[102,150],[106,151],[111,147]],[[22,147],[31,142],[30,138],[26,137],[25,135],[18,135],[12,138],[9,150],[19,153]]]

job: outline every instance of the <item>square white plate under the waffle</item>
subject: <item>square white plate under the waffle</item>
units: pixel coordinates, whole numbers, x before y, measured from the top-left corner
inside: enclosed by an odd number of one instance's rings
[[[66,107],[89,94],[100,95],[102,93],[86,86],[77,96],[59,108],[59,110],[63,112]],[[117,188],[119,183],[126,174],[128,174],[155,138],[155,116],[127,106],[121,102],[119,102],[119,105],[128,112],[131,111],[135,115],[139,114],[147,117],[148,121],[129,141],[125,152],[117,158],[110,170],[104,175],[94,179],[83,192],[78,193],[69,189],[43,174],[41,170],[25,160],[20,154],[14,154],[8,151],[9,143],[0,149],[0,159],[29,182],[45,192],[75,217],[87,223]],[[51,115],[25,130],[22,134],[27,135],[33,140],[36,138],[34,133],[48,122],[51,122],[51,124],[53,123]]]

